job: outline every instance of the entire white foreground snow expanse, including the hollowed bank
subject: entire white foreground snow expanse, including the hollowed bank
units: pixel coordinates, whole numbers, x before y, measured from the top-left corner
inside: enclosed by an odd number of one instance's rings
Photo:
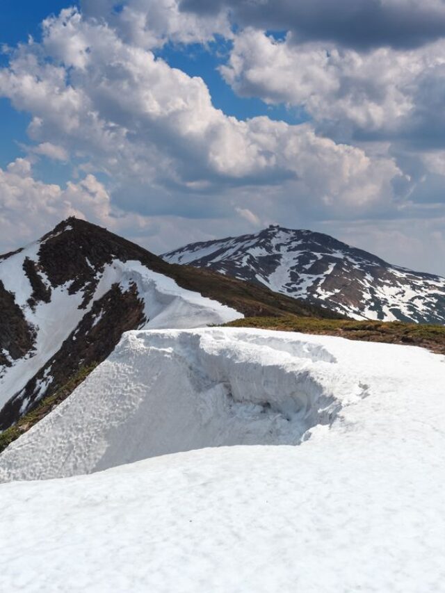
[[[444,363],[128,332],[0,455],[3,482],[65,476],[0,485],[0,590],[445,592]]]

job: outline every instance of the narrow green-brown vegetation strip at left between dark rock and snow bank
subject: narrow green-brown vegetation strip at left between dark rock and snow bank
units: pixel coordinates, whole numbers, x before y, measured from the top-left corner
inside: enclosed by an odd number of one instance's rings
[[[63,387],[59,387],[54,393],[43,398],[38,405],[28,412],[17,422],[0,434],[0,453],[6,449],[13,441],[18,439],[21,434],[37,424],[44,416],[47,416],[56,406],[63,402],[78,387],[83,380],[97,366],[97,363],[83,366],[73,377],[68,380]]]

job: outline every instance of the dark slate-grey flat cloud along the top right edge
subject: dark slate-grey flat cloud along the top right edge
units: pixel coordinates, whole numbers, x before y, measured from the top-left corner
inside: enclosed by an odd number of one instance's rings
[[[202,16],[229,11],[238,25],[292,31],[298,42],[359,49],[407,49],[445,35],[443,0],[181,0],[180,6]]]

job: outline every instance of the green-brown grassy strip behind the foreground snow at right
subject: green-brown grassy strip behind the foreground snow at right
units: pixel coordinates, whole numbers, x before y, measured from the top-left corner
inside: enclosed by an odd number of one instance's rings
[[[428,348],[445,355],[445,327],[393,321],[353,321],[346,319],[302,318],[295,315],[282,317],[249,317],[227,323],[229,327],[258,327],[280,332],[302,332],[340,336],[350,340],[410,344]]]

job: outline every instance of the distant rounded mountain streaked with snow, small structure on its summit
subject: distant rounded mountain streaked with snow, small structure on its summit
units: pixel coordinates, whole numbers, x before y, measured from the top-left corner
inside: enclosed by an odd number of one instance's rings
[[[162,257],[355,319],[445,323],[445,278],[393,266],[321,233],[271,225],[256,234],[191,243]]]

